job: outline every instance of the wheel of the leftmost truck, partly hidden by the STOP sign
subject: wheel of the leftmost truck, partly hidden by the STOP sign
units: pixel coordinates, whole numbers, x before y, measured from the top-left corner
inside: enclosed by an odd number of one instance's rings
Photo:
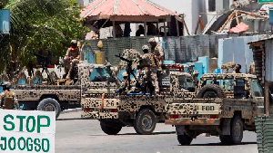
[[[39,105],[37,106],[37,110],[56,111],[56,119],[59,117],[61,113],[61,107],[59,102],[51,98],[41,100],[39,102]]]

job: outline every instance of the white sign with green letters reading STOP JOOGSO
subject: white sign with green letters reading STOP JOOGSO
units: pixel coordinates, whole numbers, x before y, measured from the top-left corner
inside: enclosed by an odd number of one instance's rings
[[[0,152],[55,152],[53,111],[0,110]]]

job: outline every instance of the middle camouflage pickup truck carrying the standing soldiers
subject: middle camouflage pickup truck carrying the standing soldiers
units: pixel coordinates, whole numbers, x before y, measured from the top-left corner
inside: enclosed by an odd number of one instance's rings
[[[151,134],[157,122],[164,122],[168,100],[194,98],[196,85],[193,77],[178,69],[163,70],[158,75],[160,95],[83,94],[82,118],[100,121],[101,129],[109,135],[122,127],[134,127],[138,134]]]

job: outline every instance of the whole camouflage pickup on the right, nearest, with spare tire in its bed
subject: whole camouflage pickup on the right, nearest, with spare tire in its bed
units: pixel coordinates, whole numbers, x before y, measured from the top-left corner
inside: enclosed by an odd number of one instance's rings
[[[270,110],[272,111],[272,110]],[[204,74],[197,99],[173,99],[167,105],[167,125],[175,125],[181,145],[201,133],[239,144],[243,130],[255,131],[254,118],[264,114],[263,89],[256,75]]]

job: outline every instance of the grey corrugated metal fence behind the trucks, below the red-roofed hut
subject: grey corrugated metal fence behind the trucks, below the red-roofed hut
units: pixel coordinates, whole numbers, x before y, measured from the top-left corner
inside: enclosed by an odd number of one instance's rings
[[[168,61],[179,63],[197,62],[200,56],[208,56],[209,58],[218,56],[218,39],[252,36],[263,33],[232,33],[217,35],[193,35],[193,36],[168,36],[163,37],[165,47],[165,56]],[[101,51],[105,52],[107,62],[117,65],[119,59],[115,54],[121,53],[124,49],[136,49],[141,51],[141,47],[147,44],[147,40],[151,37],[122,37],[102,39],[104,47]],[[99,40],[88,40],[86,43],[91,44],[93,50],[96,50],[96,44]]]

